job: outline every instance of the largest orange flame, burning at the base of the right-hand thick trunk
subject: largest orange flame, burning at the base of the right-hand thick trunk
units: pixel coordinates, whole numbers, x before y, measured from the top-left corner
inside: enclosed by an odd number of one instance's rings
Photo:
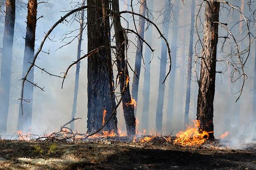
[[[174,144],[182,146],[195,146],[203,144],[208,138],[209,133],[206,131],[198,131],[200,126],[199,120],[194,120],[194,127],[187,126],[187,129],[183,132],[180,131],[176,134],[176,139],[173,141]]]

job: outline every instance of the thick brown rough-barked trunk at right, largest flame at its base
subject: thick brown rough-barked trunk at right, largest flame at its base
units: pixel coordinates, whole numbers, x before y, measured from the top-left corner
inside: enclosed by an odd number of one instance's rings
[[[216,51],[218,43],[218,22],[220,2],[210,0],[205,3],[204,51],[201,58],[199,91],[197,99],[197,120],[200,130],[212,132],[213,136],[213,99],[216,78]]]

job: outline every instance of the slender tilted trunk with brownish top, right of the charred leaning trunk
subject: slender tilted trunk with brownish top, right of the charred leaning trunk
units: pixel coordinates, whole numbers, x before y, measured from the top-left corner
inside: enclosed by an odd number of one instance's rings
[[[140,0],[140,14],[142,16],[145,16],[146,14],[146,0]],[[139,19],[139,28],[138,28],[138,34],[140,37],[144,39],[144,31],[145,31],[145,20],[140,17]],[[135,73],[133,74],[133,85],[132,85],[132,96],[135,99],[135,101],[138,100],[138,90],[139,90],[139,80],[140,80],[140,68],[141,68],[141,60],[142,60],[142,50],[143,50],[143,41],[137,37],[137,50],[135,55]],[[137,109],[134,109],[135,117],[136,117],[136,111]]]

